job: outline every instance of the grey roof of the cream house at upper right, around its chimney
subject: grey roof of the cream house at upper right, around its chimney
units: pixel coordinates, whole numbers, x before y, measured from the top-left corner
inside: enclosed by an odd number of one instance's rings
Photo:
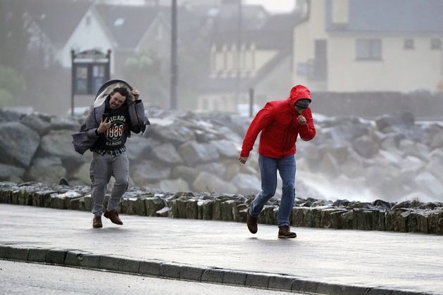
[[[349,23],[331,22],[332,0],[326,0],[327,30],[366,32],[443,32],[442,0],[349,0]]]

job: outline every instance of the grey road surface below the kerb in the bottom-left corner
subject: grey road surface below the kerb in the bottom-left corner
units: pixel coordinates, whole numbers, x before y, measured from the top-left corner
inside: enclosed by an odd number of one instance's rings
[[[0,294],[285,295],[287,292],[0,261]],[[112,290],[110,292],[110,290]]]

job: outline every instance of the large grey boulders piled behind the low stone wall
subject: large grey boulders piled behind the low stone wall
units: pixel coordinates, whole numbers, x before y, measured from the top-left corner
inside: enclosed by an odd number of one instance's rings
[[[127,141],[132,187],[242,195],[260,189],[256,153],[247,165],[237,161],[249,118],[161,109],[148,117],[146,132]],[[65,176],[88,185],[92,155],[75,153],[70,137],[84,119],[0,110],[0,181],[54,184]],[[297,142],[297,196],[443,201],[442,123],[418,123],[411,113],[375,120],[314,114],[314,121],[316,138]]]

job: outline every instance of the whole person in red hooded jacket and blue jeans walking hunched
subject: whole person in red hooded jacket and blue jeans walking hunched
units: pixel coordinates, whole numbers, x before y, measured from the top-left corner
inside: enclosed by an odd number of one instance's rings
[[[261,192],[249,206],[247,217],[249,232],[253,234],[257,232],[258,215],[277,189],[278,170],[282,177],[282,199],[277,215],[278,237],[297,237],[289,229],[289,215],[295,196],[295,142],[299,135],[304,141],[316,136],[316,127],[309,108],[311,100],[311,92],[307,87],[292,87],[287,99],[266,103],[249,125],[240,152],[241,163],[246,163],[257,135],[261,132],[258,144]]]

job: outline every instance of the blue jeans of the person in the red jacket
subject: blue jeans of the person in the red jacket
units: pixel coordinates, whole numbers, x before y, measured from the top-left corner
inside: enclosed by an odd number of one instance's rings
[[[254,217],[260,212],[266,202],[275,195],[277,189],[277,170],[282,177],[282,200],[278,208],[277,225],[289,225],[289,215],[294,205],[295,197],[295,156],[285,158],[268,158],[258,156],[261,174],[261,192],[259,192],[249,207],[249,214]]]

